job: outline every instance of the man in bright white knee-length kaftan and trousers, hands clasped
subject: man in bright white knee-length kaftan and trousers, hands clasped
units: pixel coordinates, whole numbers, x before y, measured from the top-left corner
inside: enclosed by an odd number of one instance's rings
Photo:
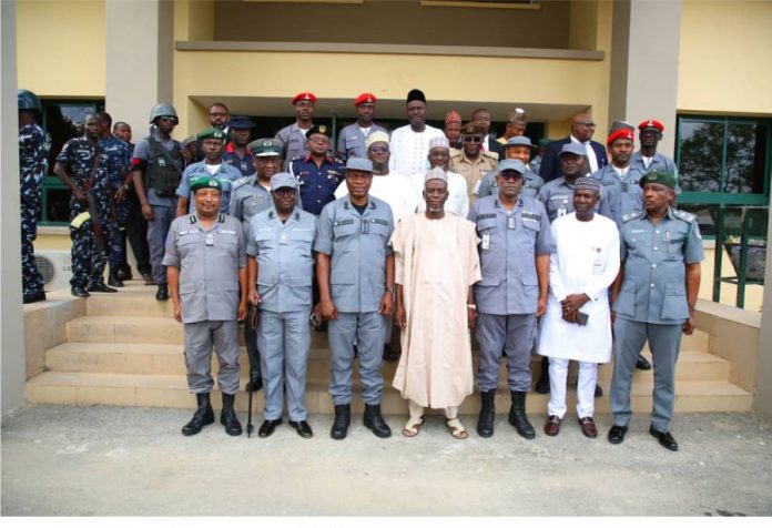
[[[549,357],[550,399],[545,433],[555,436],[566,415],[569,359],[579,362],[577,415],[581,431],[598,435],[595,387],[598,364],[611,358],[611,318],[608,288],[619,272],[617,224],[595,214],[600,183],[577,180],[575,212],[552,222],[555,253],[550,257],[549,302],[541,321],[539,354]]]

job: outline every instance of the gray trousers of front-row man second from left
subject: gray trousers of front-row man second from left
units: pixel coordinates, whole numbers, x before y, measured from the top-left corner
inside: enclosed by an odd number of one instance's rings
[[[261,309],[257,347],[261,351],[260,365],[265,393],[264,419],[282,417],[285,382],[290,419],[306,419],[306,367],[311,348],[308,309],[284,313]]]

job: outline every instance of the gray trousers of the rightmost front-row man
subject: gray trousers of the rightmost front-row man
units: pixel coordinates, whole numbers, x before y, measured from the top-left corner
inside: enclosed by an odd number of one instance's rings
[[[682,324],[639,323],[617,316],[613,324],[613,377],[611,378],[611,413],[613,424],[627,427],[632,409],[630,389],[638,355],[647,339],[654,369],[651,425],[660,431],[670,430],[676,404],[676,362],[681,348]]]

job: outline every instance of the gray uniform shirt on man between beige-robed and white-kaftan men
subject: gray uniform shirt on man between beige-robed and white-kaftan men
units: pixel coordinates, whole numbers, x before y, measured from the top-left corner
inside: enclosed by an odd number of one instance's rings
[[[520,196],[508,212],[498,196],[479,199],[469,212],[480,238],[482,280],[475,285],[477,309],[494,315],[535,314],[539,297],[536,256],[553,250],[545,206]]]

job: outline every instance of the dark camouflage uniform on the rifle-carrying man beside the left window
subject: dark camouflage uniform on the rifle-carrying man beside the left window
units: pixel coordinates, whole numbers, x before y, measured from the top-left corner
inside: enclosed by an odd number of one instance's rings
[[[100,160],[92,179],[94,155],[99,155]],[[89,139],[83,135],[64,143],[57,161],[69,169],[72,183],[80,191],[84,194],[88,191],[94,195],[99,222],[105,230],[110,216],[109,174],[119,170],[111,166],[110,155],[102,151],[99,144],[93,146]],[[89,205],[85,202],[75,200],[74,195],[70,199],[70,221],[88,211]],[[106,230],[103,231],[102,244],[106,243],[105,234]],[[84,222],[78,229],[70,225],[70,237],[72,238],[72,280],[70,281],[72,287],[90,290],[104,284],[102,274],[108,253],[104,245],[101,252],[96,250],[96,240],[91,221]]]

